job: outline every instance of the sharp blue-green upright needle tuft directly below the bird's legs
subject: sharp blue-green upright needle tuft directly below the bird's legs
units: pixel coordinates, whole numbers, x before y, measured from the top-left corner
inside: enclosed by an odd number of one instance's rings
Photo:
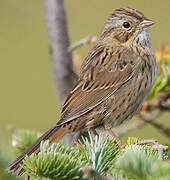
[[[114,139],[109,139],[107,136],[95,136],[94,140],[89,133],[90,142],[88,139],[83,139],[86,151],[84,153],[89,164],[92,164],[94,170],[106,174],[113,166],[114,160],[120,151],[119,145]]]

